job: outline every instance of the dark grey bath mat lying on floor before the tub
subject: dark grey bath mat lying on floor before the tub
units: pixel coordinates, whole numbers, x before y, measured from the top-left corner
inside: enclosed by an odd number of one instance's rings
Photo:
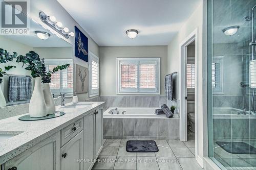
[[[158,152],[154,140],[128,140],[126,143],[127,152]]]

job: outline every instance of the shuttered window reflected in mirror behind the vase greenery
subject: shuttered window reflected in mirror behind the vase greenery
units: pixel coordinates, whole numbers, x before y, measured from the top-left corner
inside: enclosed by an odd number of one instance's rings
[[[47,70],[52,70],[57,65],[70,64],[67,69],[59,70],[52,74],[50,89],[52,93],[73,93],[73,61],[72,59],[45,59]]]

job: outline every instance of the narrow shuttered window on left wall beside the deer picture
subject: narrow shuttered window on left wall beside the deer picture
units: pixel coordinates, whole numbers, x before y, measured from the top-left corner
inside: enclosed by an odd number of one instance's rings
[[[99,95],[99,58],[89,52],[90,97]]]

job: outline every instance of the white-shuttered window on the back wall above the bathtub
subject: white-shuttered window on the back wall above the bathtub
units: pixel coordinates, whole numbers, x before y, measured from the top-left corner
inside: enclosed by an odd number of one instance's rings
[[[118,94],[160,94],[160,58],[118,58]]]

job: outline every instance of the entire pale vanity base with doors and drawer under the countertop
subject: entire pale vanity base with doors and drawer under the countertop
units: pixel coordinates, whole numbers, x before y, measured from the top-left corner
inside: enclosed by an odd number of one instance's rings
[[[103,145],[102,108],[1,165],[1,170],[88,170]]]

